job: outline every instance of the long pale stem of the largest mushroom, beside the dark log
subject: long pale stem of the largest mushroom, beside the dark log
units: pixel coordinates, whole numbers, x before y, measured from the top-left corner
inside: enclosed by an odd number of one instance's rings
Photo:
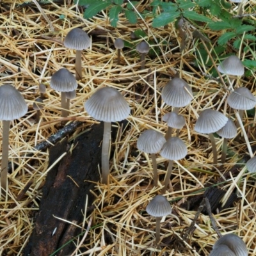
[[[104,122],[104,133],[102,141],[101,168],[102,168],[102,183],[108,184],[109,175],[109,140],[111,132],[111,123]]]

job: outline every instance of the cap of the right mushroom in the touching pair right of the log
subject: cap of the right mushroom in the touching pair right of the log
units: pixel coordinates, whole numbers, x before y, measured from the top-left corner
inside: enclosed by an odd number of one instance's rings
[[[164,143],[160,155],[169,160],[179,160],[188,154],[186,144],[180,138],[172,137]]]

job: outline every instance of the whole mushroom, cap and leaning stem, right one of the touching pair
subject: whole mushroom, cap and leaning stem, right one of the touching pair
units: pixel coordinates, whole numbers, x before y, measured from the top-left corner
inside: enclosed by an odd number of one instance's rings
[[[168,169],[164,178],[164,188],[161,194],[164,194],[168,184],[170,182],[170,177],[172,174],[172,166],[174,160],[180,160],[185,157],[188,153],[186,144],[177,137],[169,138],[166,143],[164,143],[160,155],[169,160]]]

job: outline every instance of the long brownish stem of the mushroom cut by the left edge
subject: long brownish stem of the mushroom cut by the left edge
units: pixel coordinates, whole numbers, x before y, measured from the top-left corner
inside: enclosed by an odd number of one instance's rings
[[[3,120],[3,142],[2,142],[2,163],[1,163],[1,195],[7,193],[7,170],[8,170],[8,147],[9,147],[10,121]]]

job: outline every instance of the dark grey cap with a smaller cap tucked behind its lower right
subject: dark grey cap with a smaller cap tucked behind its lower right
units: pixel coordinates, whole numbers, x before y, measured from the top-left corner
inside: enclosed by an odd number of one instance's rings
[[[61,68],[52,75],[50,86],[59,92],[71,92],[76,90],[77,81],[67,68]]]

